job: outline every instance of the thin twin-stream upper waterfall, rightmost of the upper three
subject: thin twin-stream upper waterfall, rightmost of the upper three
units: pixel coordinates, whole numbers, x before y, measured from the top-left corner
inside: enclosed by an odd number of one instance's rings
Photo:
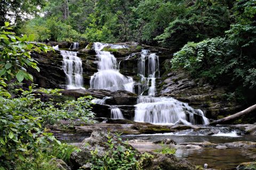
[[[148,90],[148,95],[154,96],[156,92],[156,78],[158,78],[159,76],[159,59],[156,53],[148,53],[148,50],[142,50],[141,57],[138,60],[138,75],[140,77],[138,94],[142,95],[143,92]],[[148,67],[146,67],[146,60],[148,63]],[[146,68],[148,69],[147,76]]]

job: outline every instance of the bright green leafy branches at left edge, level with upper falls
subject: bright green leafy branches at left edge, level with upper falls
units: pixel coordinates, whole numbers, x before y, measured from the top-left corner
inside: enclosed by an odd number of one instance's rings
[[[39,71],[37,62],[31,58],[31,52],[47,52],[51,50],[48,46],[41,43],[31,43],[35,36],[23,35],[15,36],[10,32],[14,27],[10,27],[9,22],[0,28],[0,78],[11,80],[16,77],[19,82],[23,79],[33,80],[33,76],[27,72],[26,68],[34,68]]]

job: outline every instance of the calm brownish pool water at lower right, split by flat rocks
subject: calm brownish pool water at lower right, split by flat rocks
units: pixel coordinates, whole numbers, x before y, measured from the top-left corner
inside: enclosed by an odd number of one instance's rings
[[[211,142],[211,143],[228,143],[235,141],[252,141],[256,142],[256,136],[242,135],[239,137],[229,136],[203,136],[203,135],[127,135],[123,136],[124,140],[146,140],[146,141],[159,141],[163,139],[173,139],[175,142]],[[154,150],[155,146],[142,145],[135,147],[143,151]],[[178,148],[175,156],[186,159],[195,165],[208,164],[209,168],[215,169],[236,169],[236,166],[256,160],[256,148],[244,149],[215,149],[215,148],[201,148],[201,149],[186,149]]]

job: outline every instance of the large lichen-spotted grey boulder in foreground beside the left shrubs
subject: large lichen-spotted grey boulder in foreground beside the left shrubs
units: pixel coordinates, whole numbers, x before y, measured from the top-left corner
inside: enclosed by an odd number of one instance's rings
[[[109,145],[106,144],[106,142],[108,141],[108,136],[109,134],[105,129],[94,128],[91,136],[84,139],[82,143],[78,146],[81,151],[74,151],[71,154],[70,161],[73,165],[72,167],[79,168],[82,166],[88,166],[87,163],[89,163],[90,159],[92,158],[91,151],[94,151],[96,149],[98,150],[97,155],[100,157],[103,156],[105,152],[110,149]],[[115,137],[113,137],[113,140],[116,141]],[[131,147],[129,144],[124,145],[123,143],[119,142],[118,144],[115,144],[114,148],[116,148],[117,145],[121,145],[123,147]]]

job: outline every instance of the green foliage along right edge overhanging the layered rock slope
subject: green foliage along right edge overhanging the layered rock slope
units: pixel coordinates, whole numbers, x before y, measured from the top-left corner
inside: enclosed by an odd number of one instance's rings
[[[226,31],[226,38],[187,43],[174,54],[172,68],[186,69],[191,76],[215,84],[233,82],[255,89],[255,6],[254,1],[237,1],[233,7],[236,22]]]

